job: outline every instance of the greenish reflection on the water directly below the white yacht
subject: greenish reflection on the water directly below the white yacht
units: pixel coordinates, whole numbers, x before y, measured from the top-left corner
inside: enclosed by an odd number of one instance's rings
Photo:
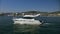
[[[15,34],[39,34],[39,28],[38,25],[20,25],[20,24],[14,24],[14,33]]]

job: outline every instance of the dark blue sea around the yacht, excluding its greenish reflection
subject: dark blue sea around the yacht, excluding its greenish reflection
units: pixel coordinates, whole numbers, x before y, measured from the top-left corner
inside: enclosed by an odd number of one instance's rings
[[[36,19],[42,20],[44,24],[37,27],[38,29],[32,29],[34,30],[32,32],[14,32],[16,27],[12,19],[12,16],[0,16],[0,34],[60,34],[60,17],[36,17]]]

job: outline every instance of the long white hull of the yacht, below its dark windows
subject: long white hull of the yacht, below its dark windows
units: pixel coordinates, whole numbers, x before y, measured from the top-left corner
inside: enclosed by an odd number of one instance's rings
[[[14,24],[31,24],[31,25],[37,24],[37,25],[40,25],[41,23],[40,23],[40,21],[34,20],[34,19],[21,19],[21,20],[15,19]]]

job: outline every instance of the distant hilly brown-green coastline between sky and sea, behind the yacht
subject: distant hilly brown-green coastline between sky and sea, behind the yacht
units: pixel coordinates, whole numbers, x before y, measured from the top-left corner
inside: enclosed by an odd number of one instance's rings
[[[0,16],[22,16],[24,14],[41,14],[40,16],[60,16],[60,11],[55,11],[55,12],[40,12],[40,11],[26,11],[26,12],[21,12],[21,13],[0,13]]]

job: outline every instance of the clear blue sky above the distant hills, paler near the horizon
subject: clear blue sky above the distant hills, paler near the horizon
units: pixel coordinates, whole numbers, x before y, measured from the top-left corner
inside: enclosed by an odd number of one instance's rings
[[[52,12],[60,10],[60,0],[0,0],[0,12],[22,12],[38,10]]]

